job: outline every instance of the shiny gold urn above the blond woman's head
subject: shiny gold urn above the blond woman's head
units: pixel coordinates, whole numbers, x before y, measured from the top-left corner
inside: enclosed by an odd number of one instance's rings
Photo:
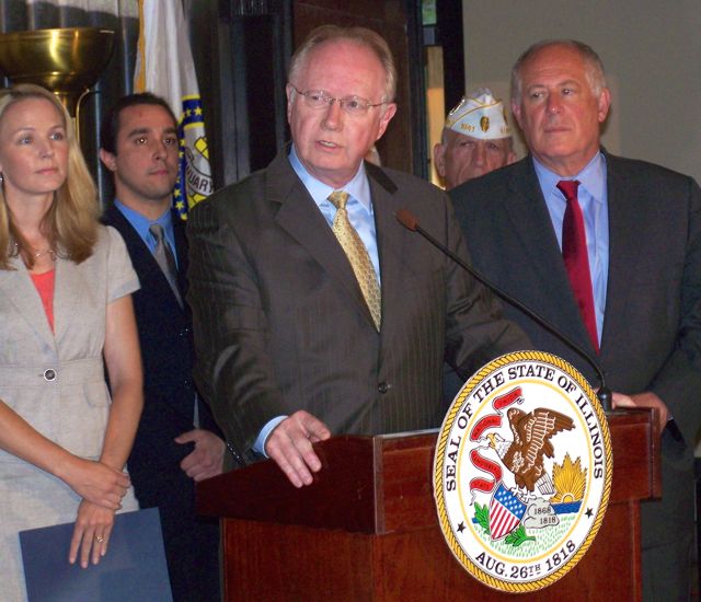
[[[0,72],[12,83],[50,90],[79,121],[80,101],[106,67],[113,43],[114,32],[99,27],[0,34]]]

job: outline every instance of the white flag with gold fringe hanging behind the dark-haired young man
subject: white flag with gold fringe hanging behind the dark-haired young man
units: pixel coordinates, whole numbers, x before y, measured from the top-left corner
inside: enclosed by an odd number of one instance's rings
[[[181,0],[139,0],[139,42],[135,92],[168,101],[177,118],[180,174],[173,205],[183,219],[212,192],[195,62]]]

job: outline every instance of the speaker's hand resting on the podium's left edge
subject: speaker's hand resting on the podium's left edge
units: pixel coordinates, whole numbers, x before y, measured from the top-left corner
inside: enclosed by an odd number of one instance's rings
[[[300,409],[275,427],[265,442],[265,453],[295,487],[311,485],[311,473],[321,470],[321,461],[311,445],[330,437],[326,425]]]

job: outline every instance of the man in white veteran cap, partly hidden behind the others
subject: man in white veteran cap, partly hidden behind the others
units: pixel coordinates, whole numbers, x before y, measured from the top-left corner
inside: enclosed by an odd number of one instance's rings
[[[447,190],[515,160],[504,104],[489,88],[472,91],[448,113],[434,147],[436,170]]]

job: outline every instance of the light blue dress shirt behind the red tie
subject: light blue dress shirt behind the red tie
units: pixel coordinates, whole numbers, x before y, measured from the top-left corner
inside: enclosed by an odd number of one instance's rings
[[[545,198],[552,225],[555,229],[558,244],[562,250],[562,222],[567,201],[558,188],[561,180],[578,180],[577,198],[584,215],[584,229],[587,235],[587,256],[591,273],[594,291],[594,311],[596,329],[601,341],[604,328],[604,310],[606,308],[606,290],[609,277],[609,207],[606,188],[606,158],[597,152],[591,161],[576,175],[565,177],[551,172],[535,157],[533,166]]]

